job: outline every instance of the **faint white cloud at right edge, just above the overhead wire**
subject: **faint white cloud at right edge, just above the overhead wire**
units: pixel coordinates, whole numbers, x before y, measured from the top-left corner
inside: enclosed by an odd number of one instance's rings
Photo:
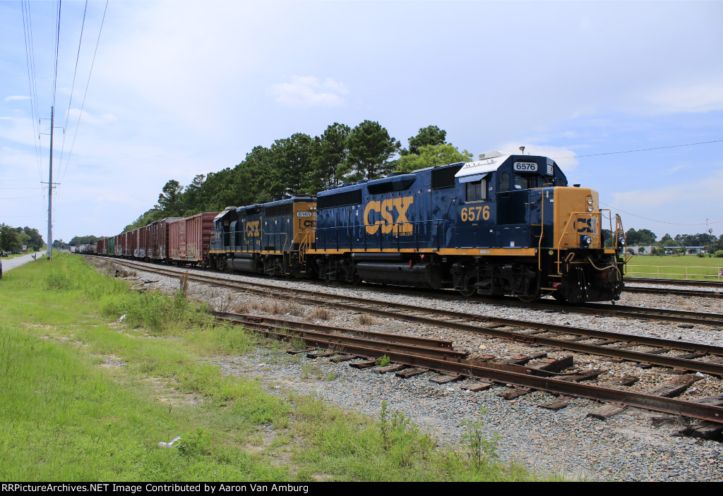
[[[703,113],[723,110],[723,81],[658,90],[649,102],[661,112]]]

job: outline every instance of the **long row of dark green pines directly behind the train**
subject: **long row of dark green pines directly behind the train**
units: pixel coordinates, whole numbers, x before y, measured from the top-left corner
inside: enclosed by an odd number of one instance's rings
[[[391,172],[407,173],[471,160],[471,153],[460,152],[446,142],[446,137],[444,129],[427,126],[402,148],[401,142],[375,121],[364,121],[354,128],[335,122],[314,137],[292,134],[275,140],[270,147],[254,147],[234,167],[196,175],[188,186],[168,180],[158,195],[158,204],[124,231],[164,217],[220,212],[226,206],[264,203],[285,195],[315,195],[343,183],[382,178]]]

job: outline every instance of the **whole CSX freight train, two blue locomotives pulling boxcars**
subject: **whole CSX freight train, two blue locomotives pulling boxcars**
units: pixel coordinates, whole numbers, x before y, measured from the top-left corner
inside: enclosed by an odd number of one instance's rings
[[[77,251],[273,277],[454,288],[462,295],[617,300],[625,238],[598,193],[555,161],[474,162],[359,181],[223,212],[168,218]]]

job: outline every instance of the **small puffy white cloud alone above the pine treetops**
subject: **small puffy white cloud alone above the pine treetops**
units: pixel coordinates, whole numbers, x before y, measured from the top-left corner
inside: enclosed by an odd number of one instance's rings
[[[348,90],[331,78],[320,82],[314,76],[292,76],[290,83],[273,84],[269,92],[283,105],[335,107],[343,103]]]

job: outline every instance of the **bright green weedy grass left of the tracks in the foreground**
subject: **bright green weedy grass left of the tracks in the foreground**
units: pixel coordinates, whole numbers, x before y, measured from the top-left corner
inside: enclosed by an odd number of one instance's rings
[[[209,358],[247,353],[255,335],[80,256],[8,271],[0,302],[3,481],[535,479],[500,464],[479,425],[446,451],[395,412],[369,419],[222,375]]]

